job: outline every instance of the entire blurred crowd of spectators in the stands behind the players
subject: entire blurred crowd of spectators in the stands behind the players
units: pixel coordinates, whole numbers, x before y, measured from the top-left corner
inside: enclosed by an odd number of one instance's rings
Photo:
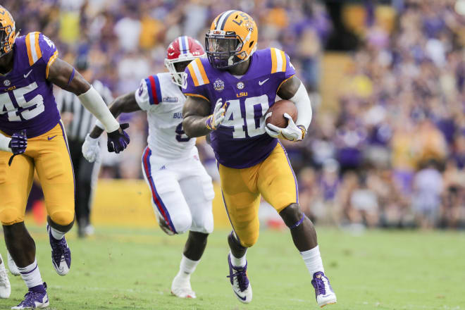
[[[386,2],[386,1],[385,1]],[[299,199],[316,223],[347,227],[465,228],[465,17],[455,0],[392,1],[391,27],[374,1],[360,44],[334,85],[337,109],[318,100],[325,42],[333,31],[323,1],[43,0],[2,1],[23,34],[41,31],[74,63],[87,55],[94,79],[113,97],[164,70],[166,46],[179,35],[204,42],[218,13],[248,12],[259,48],[286,51],[316,98],[306,140],[285,143],[299,178]],[[324,99],[324,98],[323,98]],[[131,144],[104,156],[102,178],[141,178],[147,138],[143,113],[123,116]],[[213,177],[210,147],[199,150]]]

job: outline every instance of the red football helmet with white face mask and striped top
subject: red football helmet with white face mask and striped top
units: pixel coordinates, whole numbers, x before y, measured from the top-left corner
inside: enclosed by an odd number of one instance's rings
[[[187,65],[195,58],[205,56],[204,46],[196,39],[185,35],[174,39],[166,50],[165,66],[175,85],[182,87],[182,76]]]

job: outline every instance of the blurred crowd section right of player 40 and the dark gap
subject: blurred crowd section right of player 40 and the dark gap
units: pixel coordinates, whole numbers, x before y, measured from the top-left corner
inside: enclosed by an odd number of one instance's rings
[[[287,144],[309,215],[465,228],[465,17],[455,2],[404,1],[391,32],[367,14],[335,85],[339,110],[317,113],[303,145]]]

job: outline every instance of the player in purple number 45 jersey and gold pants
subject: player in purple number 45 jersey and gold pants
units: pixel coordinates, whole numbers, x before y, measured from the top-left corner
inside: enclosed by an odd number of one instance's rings
[[[109,151],[119,153],[129,137],[103,99],[39,32],[18,37],[11,14],[0,6],[0,221],[6,247],[28,292],[12,309],[49,305],[46,284],[35,259],[35,242],[24,225],[34,171],[44,191],[52,264],[59,275],[70,270],[64,235],[74,223],[74,175],[68,142],[52,93],[53,84],[76,94],[104,124]]]

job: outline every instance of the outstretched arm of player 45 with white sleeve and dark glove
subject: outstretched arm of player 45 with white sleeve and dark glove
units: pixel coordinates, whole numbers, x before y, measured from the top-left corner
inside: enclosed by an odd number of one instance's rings
[[[82,105],[101,121],[108,132],[109,151],[119,153],[128,146],[129,136],[123,130],[128,128],[128,125],[120,126],[116,118],[111,115],[104,99],[73,66],[60,58],[56,58],[49,68],[47,80],[68,92],[73,92],[80,99]]]

